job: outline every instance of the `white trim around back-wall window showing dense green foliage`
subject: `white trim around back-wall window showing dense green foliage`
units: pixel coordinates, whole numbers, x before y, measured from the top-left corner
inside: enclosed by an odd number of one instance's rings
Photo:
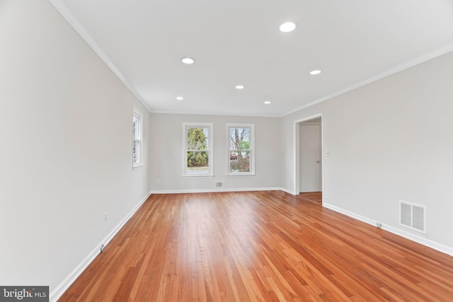
[[[209,173],[207,174],[188,174],[187,173],[187,127],[200,127],[200,128],[209,128],[209,139],[208,139],[208,149],[209,149]],[[212,122],[183,122],[183,178],[202,178],[202,177],[214,177],[214,123]]]

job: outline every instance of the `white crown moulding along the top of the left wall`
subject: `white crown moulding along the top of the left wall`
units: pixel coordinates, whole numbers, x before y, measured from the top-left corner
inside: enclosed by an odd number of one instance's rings
[[[144,108],[147,108],[149,112],[151,112],[149,105],[147,102],[142,98],[142,95],[137,93],[135,91],[134,87],[125,79],[124,76],[122,76],[121,72],[115,67],[115,65],[110,61],[110,59],[107,57],[105,52],[101,50],[101,47],[99,47],[98,43],[96,43],[91,35],[88,34],[86,29],[77,21],[77,19],[72,15],[72,13],[67,9],[66,6],[62,3],[61,0],[49,0],[50,3],[57,9],[59,13],[62,14],[63,18],[65,18],[68,23],[76,30],[79,35],[81,35],[82,39],[85,40],[86,44],[88,44],[91,49],[98,54],[98,57],[100,57],[103,62],[110,68],[113,73],[122,81],[122,83],[126,86],[127,89],[139,100],[142,105],[144,105]]]

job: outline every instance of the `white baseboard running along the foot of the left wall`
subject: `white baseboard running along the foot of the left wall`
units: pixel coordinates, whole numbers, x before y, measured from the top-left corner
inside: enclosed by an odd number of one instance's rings
[[[51,302],[57,301],[59,297],[61,297],[62,294],[64,294],[64,291],[66,291],[69,288],[69,286],[71,286],[71,284],[74,283],[74,281],[76,281],[80,274],[84,272],[86,267],[88,267],[88,265],[90,265],[94,258],[96,258],[99,252],[101,252],[101,245],[103,245],[105,248],[105,246],[108,245],[108,243],[110,243],[110,240],[112,240],[112,238],[115,237],[118,231],[120,231],[120,229],[127,223],[127,221],[129,221],[129,219],[135,214],[139,207],[142,206],[142,204],[148,199],[149,195],[151,195],[151,192],[149,192],[147,196],[145,196],[137,204],[137,206],[135,206],[134,209],[132,209],[132,211],[130,211],[130,213],[127,214],[125,218],[122,219],[122,221],[120,221],[120,223],[118,223],[117,226],[115,226],[115,228],[113,228],[113,230],[110,231],[110,233],[108,233],[108,235],[105,238],[103,238],[101,243],[99,243],[96,246],[96,248],[93,248],[93,250],[85,257],[85,259],[79,265],[77,265],[77,267],[71,272],[71,274],[69,274],[57,287],[55,287],[55,289],[53,289],[50,292],[49,300]]]

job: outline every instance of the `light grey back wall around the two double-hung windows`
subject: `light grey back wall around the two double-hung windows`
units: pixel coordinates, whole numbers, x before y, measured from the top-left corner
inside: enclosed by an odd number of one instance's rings
[[[214,123],[214,178],[182,178],[183,122]],[[256,175],[226,176],[228,145],[226,123],[255,124]],[[232,117],[222,115],[151,114],[151,188],[153,192],[272,189],[281,187],[282,149],[280,119],[276,117]],[[156,180],[160,183],[157,184]]]

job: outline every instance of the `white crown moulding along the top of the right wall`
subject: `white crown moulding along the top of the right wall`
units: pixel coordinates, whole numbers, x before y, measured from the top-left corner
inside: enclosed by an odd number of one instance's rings
[[[285,116],[290,115],[290,114],[292,114],[294,112],[297,112],[299,110],[303,110],[303,109],[309,108],[311,106],[314,106],[316,104],[322,103],[322,102],[324,102],[326,100],[330,100],[331,98],[335,98],[338,95],[342,95],[344,93],[348,93],[349,91],[353,91],[354,89],[357,89],[359,87],[365,86],[365,85],[367,85],[369,83],[378,81],[380,79],[384,79],[386,76],[391,76],[392,74],[396,74],[399,71],[403,71],[404,69],[411,68],[411,67],[413,67],[415,65],[421,64],[421,63],[426,62],[426,61],[428,61],[430,59],[434,59],[435,57],[440,57],[440,56],[442,56],[442,54],[447,54],[448,52],[452,52],[452,51],[453,51],[453,44],[450,44],[450,45],[447,45],[445,47],[440,48],[439,50],[435,50],[433,52],[429,52],[428,54],[423,54],[420,57],[416,57],[415,59],[413,59],[413,60],[411,60],[409,62],[406,62],[406,63],[403,63],[401,65],[395,66],[392,69],[386,70],[386,71],[384,71],[384,72],[382,72],[380,74],[372,76],[371,78],[365,79],[364,81],[360,81],[359,83],[355,83],[355,84],[353,84],[353,85],[351,85],[349,87],[346,87],[346,88],[344,88],[344,89],[342,89],[340,91],[336,91],[334,93],[326,95],[323,98],[319,98],[318,100],[314,100],[311,103],[308,103],[306,105],[302,105],[301,107],[299,107],[297,109],[288,111],[288,112],[280,115],[279,117],[285,117]]]

